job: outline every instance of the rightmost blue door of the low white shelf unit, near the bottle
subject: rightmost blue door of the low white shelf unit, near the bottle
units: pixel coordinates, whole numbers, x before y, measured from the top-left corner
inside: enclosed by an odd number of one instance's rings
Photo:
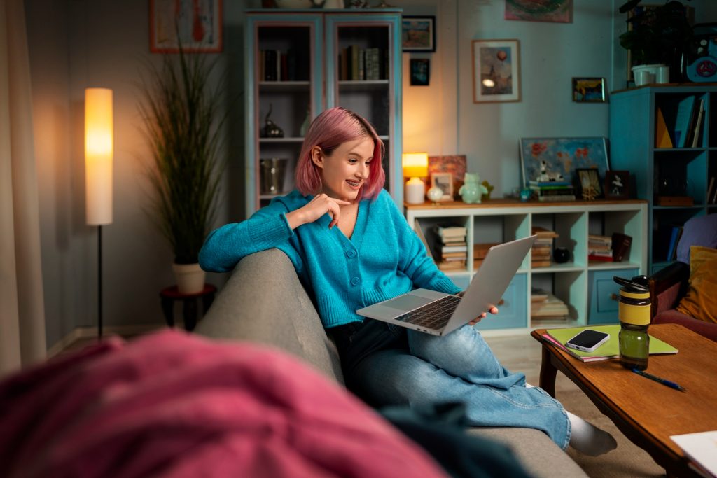
[[[612,277],[630,279],[638,269],[615,269],[590,271],[588,278],[589,310],[588,324],[617,324],[617,302],[620,286]]]

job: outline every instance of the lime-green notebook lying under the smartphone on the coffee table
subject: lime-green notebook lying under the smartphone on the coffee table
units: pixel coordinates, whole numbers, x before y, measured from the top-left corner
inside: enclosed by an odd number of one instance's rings
[[[600,332],[608,333],[610,338],[607,342],[600,345],[592,352],[583,352],[582,350],[575,350],[567,348],[565,344],[572,338],[576,333],[579,333],[584,329],[599,330]],[[584,362],[594,362],[596,360],[607,360],[608,358],[617,358],[620,356],[619,346],[617,344],[617,335],[619,334],[620,326],[618,325],[594,325],[588,327],[571,327],[564,329],[548,329],[546,334],[543,334],[543,338],[554,343],[559,348],[566,350],[567,353],[573,355],[575,358],[579,358]],[[677,353],[677,349],[672,345],[663,342],[660,339],[652,337],[650,335],[650,355],[660,353]]]

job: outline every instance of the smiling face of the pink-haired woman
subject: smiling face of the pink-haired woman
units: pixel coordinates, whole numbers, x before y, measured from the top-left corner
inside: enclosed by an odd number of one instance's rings
[[[374,158],[374,140],[369,137],[346,141],[331,156],[316,146],[312,159],[321,170],[321,192],[334,199],[355,201]],[[379,165],[380,166],[380,165]]]

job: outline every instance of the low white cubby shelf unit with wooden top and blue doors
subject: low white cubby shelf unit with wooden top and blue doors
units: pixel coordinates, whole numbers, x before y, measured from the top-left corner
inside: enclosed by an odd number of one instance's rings
[[[569,251],[569,260],[548,267],[533,267],[528,255],[499,305],[498,315],[488,315],[476,328],[489,335],[527,332],[536,327],[574,327],[617,323],[617,285],[612,277],[632,277],[647,270],[647,201],[569,201],[544,203],[491,199],[482,204],[451,202],[404,204],[406,218],[427,247],[435,251],[437,224],[465,226],[467,264],[445,271],[465,289],[475,274],[473,244],[508,242],[531,235],[534,226],[555,231],[554,247]],[[588,236],[614,232],[632,237],[622,262],[588,260]],[[566,321],[539,323],[531,319],[533,287],[551,292],[566,303]]]

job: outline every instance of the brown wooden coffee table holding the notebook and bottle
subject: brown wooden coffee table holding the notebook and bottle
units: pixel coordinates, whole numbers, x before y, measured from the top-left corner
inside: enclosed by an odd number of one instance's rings
[[[679,350],[650,355],[647,372],[687,388],[681,392],[628,371],[619,360],[584,363],[544,340],[540,386],[555,397],[556,372],[581,388],[628,439],[669,474],[699,476],[670,435],[717,430],[717,343],[677,324],[650,325],[650,335]]]

